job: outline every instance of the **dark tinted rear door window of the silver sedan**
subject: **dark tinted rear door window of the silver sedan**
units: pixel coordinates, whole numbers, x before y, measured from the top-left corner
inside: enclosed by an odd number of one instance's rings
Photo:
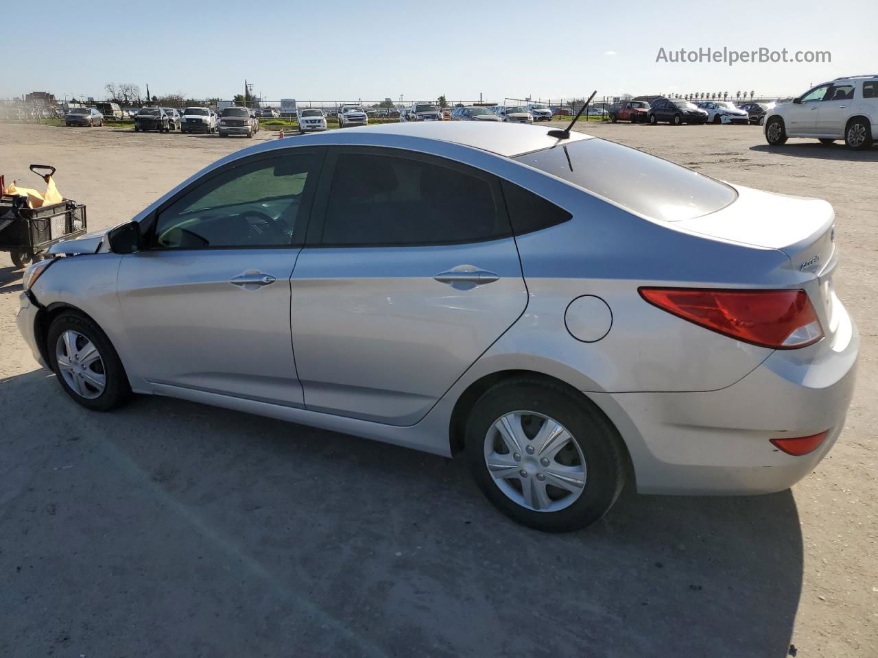
[[[325,245],[435,245],[510,234],[485,175],[395,154],[338,155]]]

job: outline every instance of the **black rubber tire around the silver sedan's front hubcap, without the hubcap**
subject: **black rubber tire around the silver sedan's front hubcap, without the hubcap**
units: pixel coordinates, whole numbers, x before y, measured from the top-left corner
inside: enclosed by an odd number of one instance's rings
[[[70,388],[67,380],[58,371],[55,347],[61,334],[68,330],[82,334],[97,347],[97,351],[100,353],[106,383],[104,391],[98,397],[87,398],[79,395]],[[131,386],[128,384],[128,376],[126,375],[125,368],[122,366],[122,361],[119,361],[119,354],[112,347],[112,343],[106,337],[106,334],[90,318],[86,318],[76,311],[65,311],[57,318],[54,318],[47,333],[46,352],[49,359],[49,368],[52,368],[54,371],[58,383],[61,384],[61,388],[68,396],[73,398],[78,404],[82,404],[86,409],[91,411],[110,411],[124,404],[131,397]]]

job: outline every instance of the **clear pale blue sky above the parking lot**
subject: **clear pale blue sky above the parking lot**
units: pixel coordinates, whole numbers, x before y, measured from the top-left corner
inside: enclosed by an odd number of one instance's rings
[[[260,9],[270,6],[288,9],[276,18]],[[88,7],[94,11],[83,11]],[[4,30],[0,98],[32,90],[101,98],[107,82],[135,82],[143,91],[149,83],[158,95],[227,98],[241,91],[245,78],[272,100],[439,94],[471,100],[482,93],[502,101],[582,96],[594,89],[599,95],[734,95],[738,89],[791,95],[811,82],[878,69],[878,40],[868,25],[871,1],[782,0],[752,7],[741,0],[541,8],[518,0],[131,0],[105,6],[48,0],[32,7],[28,29]],[[142,13],[146,9],[149,15]],[[860,21],[851,20],[857,16]],[[832,61],[656,63],[660,47],[708,46],[826,50]]]

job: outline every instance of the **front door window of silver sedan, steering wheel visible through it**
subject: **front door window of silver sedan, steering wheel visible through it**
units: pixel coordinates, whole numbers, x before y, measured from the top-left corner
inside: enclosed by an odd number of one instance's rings
[[[286,154],[228,168],[161,211],[152,246],[160,249],[289,247],[317,157]]]

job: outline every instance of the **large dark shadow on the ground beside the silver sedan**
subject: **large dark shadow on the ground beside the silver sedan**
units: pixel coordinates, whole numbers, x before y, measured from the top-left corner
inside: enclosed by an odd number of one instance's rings
[[[587,530],[544,534],[462,460],[161,397],[97,414],[46,370],[0,380],[0,403],[23,654],[58,637],[96,655],[787,654],[789,491],[625,490]]]

